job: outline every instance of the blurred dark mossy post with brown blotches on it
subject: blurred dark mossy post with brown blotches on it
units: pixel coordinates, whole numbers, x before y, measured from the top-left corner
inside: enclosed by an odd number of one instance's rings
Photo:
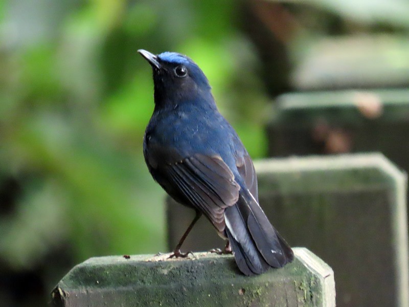
[[[379,151],[409,171],[409,90],[288,93],[276,102],[270,157]]]

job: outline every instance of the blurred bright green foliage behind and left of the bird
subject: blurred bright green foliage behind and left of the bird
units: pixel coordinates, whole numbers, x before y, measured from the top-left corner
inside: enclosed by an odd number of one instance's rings
[[[0,215],[1,262],[30,269],[60,246],[74,262],[165,251],[164,192],[142,156],[153,84],[139,48],[193,58],[249,152],[264,155],[267,99],[236,6],[2,2],[0,186],[9,207]]]

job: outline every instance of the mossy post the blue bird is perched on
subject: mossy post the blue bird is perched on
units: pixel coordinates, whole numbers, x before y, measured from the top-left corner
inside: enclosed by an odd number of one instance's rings
[[[197,253],[90,258],[74,267],[52,292],[64,307],[335,306],[331,268],[305,248],[282,269],[242,275],[232,255]]]

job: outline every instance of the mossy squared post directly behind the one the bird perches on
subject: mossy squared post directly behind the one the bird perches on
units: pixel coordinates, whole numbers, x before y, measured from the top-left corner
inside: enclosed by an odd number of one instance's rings
[[[334,270],[337,306],[409,305],[406,176],[380,154],[266,159],[255,163],[260,204],[292,246]],[[170,247],[193,213],[168,201]],[[184,250],[221,247],[210,223]]]

